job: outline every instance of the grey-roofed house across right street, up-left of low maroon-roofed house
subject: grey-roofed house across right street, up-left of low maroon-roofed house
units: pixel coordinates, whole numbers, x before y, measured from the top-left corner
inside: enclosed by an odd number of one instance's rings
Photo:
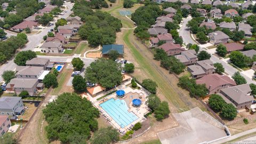
[[[220,43],[225,44],[228,42],[229,36],[222,31],[214,31],[209,34],[210,43],[213,45],[218,45]]]

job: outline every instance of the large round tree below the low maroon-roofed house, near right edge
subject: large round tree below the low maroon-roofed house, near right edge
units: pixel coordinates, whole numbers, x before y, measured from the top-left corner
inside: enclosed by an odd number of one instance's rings
[[[231,52],[229,58],[230,61],[239,68],[246,66],[244,54],[239,51]]]

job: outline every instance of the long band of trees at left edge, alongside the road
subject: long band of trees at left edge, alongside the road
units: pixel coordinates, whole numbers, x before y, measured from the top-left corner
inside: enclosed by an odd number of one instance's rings
[[[19,47],[27,43],[27,35],[23,33],[11,36],[6,41],[0,42],[0,63],[10,60]]]

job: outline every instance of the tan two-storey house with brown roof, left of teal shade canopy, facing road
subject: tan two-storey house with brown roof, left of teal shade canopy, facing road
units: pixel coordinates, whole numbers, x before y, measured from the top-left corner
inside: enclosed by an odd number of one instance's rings
[[[44,42],[41,46],[44,53],[62,53],[62,43],[60,42]]]

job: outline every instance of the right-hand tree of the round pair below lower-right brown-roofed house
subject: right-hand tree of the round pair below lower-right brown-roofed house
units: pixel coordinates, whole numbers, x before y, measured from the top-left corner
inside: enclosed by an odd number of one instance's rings
[[[236,108],[231,103],[225,103],[220,115],[227,119],[234,119],[237,115]]]

